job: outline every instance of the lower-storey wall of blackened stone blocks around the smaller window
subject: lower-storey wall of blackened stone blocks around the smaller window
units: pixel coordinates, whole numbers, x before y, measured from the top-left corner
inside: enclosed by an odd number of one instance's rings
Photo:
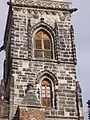
[[[40,86],[36,86],[37,76],[43,71],[50,71],[58,80],[58,90],[56,91],[57,110],[47,110],[46,114],[66,117],[77,116],[75,103],[76,70],[72,64],[13,59],[14,103],[21,103],[28,83],[32,83],[36,90],[40,88]]]

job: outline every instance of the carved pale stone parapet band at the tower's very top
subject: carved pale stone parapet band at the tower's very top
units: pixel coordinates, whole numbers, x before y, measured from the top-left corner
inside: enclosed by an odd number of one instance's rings
[[[69,9],[71,7],[70,2],[59,2],[59,1],[45,1],[45,0],[12,0],[14,4],[33,6],[33,7],[44,7],[44,8],[59,8]]]

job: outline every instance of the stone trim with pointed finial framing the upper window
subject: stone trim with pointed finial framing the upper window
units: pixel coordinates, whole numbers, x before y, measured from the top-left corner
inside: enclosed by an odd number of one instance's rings
[[[34,25],[33,27],[31,27],[31,29],[29,28],[28,29],[28,37],[29,37],[29,46],[31,47],[28,47],[28,51],[29,51],[29,59],[31,59],[32,57],[34,57],[34,52],[33,52],[33,35],[35,33],[35,31],[38,31],[40,29],[43,29],[43,30],[46,30],[47,32],[50,32],[51,34],[51,37],[53,37],[52,39],[54,40],[54,36],[55,36],[55,33],[54,33],[54,29],[48,25],[47,23],[44,22],[44,19],[41,18],[41,21],[39,23],[37,23],[36,25]],[[53,48],[53,58],[54,58],[54,47],[53,47],[53,41],[52,40],[52,48]],[[32,53],[31,53],[32,51]]]

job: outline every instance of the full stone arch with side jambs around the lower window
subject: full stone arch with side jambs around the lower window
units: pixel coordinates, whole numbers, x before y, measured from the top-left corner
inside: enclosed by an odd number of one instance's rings
[[[36,83],[37,83],[37,88],[38,88],[38,98],[40,99],[40,104],[41,104],[41,101],[42,101],[42,98],[41,98],[41,87],[42,87],[42,82],[43,81],[46,81],[48,80],[48,82],[51,83],[51,94],[52,94],[52,108],[56,108],[56,89],[57,89],[57,86],[58,86],[58,80],[56,78],[56,76],[48,71],[48,70],[45,70],[45,71],[42,71],[40,72],[38,75],[37,75],[37,79],[36,79]]]

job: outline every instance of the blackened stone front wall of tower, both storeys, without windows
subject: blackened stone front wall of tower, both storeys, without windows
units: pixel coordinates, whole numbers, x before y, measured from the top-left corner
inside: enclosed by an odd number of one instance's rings
[[[51,4],[46,4],[47,9],[42,4],[26,1],[26,7],[22,5],[22,0],[12,0],[15,6],[12,6],[12,23],[10,39],[10,57],[11,57],[11,79],[13,85],[10,86],[10,115],[12,120],[18,104],[20,104],[26,94],[27,84],[34,85],[35,91],[40,92],[40,80],[38,75],[43,72],[51,73],[55,76],[53,80],[55,92],[55,107],[46,110],[46,120],[54,119],[58,116],[64,118],[77,119],[76,109],[76,65],[74,62],[75,46],[74,37],[71,37],[71,13],[70,3],[55,4],[55,8],[63,7],[65,10],[55,9]],[[18,6],[17,4],[20,4]],[[44,1],[44,3],[47,3]],[[24,3],[23,3],[24,4]],[[41,5],[33,8],[34,5]],[[71,4],[70,4],[71,5]],[[46,6],[45,6],[46,7]],[[50,8],[50,9],[49,9]],[[43,18],[43,21],[41,21]],[[51,30],[53,33],[53,59],[44,60],[34,58],[33,53],[33,32],[39,27]],[[39,97],[40,100],[40,97]]]

